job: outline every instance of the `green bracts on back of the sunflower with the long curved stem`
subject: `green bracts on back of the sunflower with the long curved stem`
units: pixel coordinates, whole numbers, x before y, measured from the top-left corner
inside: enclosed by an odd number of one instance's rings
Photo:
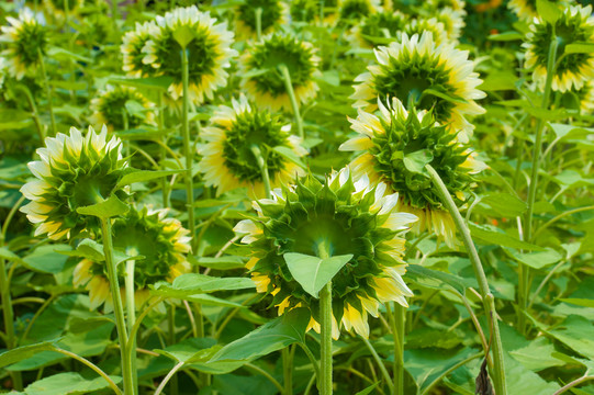
[[[391,184],[405,203],[416,208],[441,208],[428,174],[408,162],[417,155],[423,154],[430,159],[428,163],[439,173],[458,203],[462,201],[456,192],[466,191],[472,182],[469,170],[460,167],[467,159],[467,147],[452,144],[456,135],[448,133],[445,126],[434,124],[430,113],[423,122],[418,122],[414,112],[405,121],[392,117],[391,123],[386,123],[382,120],[385,134],[374,135],[373,147],[369,149],[382,181]]]

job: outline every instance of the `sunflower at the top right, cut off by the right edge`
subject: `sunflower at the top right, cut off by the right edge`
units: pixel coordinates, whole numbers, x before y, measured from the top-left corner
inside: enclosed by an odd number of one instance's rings
[[[531,32],[526,35],[527,42],[525,67],[534,68],[533,79],[545,86],[547,79],[547,61],[549,44],[553,38],[553,26],[541,19],[535,19],[530,25]],[[565,92],[569,89],[580,89],[584,82],[594,78],[594,55],[592,53],[568,54],[565,47],[575,43],[592,43],[594,41],[594,18],[592,5],[573,5],[567,8],[554,25],[558,65],[552,77],[552,90]]]

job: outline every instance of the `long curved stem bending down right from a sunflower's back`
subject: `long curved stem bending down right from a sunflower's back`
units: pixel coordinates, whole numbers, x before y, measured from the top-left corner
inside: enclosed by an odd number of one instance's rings
[[[470,229],[468,228],[467,224],[464,223],[464,219],[460,215],[460,212],[458,211],[458,206],[451,199],[451,195],[447,189],[447,187],[444,184],[444,181],[441,181],[441,178],[435,171],[435,169],[430,165],[426,165],[425,169],[430,174],[433,184],[439,194],[439,198],[444,205],[449,211],[450,215],[453,218],[453,222],[456,224],[456,227],[462,235],[462,240],[464,242],[464,247],[467,249],[467,252],[470,258],[470,262],[472,263],[472,269],[474,271],[474,276],[477,278],[477,282],[479,283],[479,291],[481,293],[482,300],[483,300],[483,307],[486,313],[486,316],[489,318],[490,325],[493,327],[493,375],[494,375],[494,382],[495,382],[495,392],[497,395],[506,395],[507,394],[507,387],[505,385],[505,370],[504,370],[504,362],[503,362],[503,346],[501,342],[500,337],[500,330],[498,330],[498,323],[497,323],[497,314],[495,312],[495,304],[490,303],[490,298],[493,297],[491,294],[491,291],[489,289],[489,283],[486,281],[486,275],[484,274],[484,270],[481,263],[481,259],[479,258],[479,253],[477,252],[477,248],[474,247],[474,242],[472,242],[472,237],[470,236]]]

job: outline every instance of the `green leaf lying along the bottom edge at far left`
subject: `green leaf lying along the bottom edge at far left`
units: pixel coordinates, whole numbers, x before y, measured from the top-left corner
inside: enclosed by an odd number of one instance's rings
[[[119,383],[121,377],[110,376],[112,381]],[[25,388],[25,394],[30,395],[69,395],[96,393],[109,387],[103,377],[87,380],[78,373],[58,373],[31,383]]]

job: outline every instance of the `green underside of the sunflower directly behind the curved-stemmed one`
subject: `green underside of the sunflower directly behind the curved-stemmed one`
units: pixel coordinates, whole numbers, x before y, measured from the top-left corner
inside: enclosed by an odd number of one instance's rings
[[[455,104],[451,101],[427,93],[427,89],[459,98],[453,87],[448,82],[451,70],[438,65],[437,58],[422,58],[418,54],[410,57],[402,54],[399,59],[390,58],[388,66],[381,66],[382,71],[373,76],[378,97],[397,98],[407,108],[414,105],[419,110],[432,110],[436,121],[446,123],[450,119]],[[372,100],[371,102],[376,102]]]

